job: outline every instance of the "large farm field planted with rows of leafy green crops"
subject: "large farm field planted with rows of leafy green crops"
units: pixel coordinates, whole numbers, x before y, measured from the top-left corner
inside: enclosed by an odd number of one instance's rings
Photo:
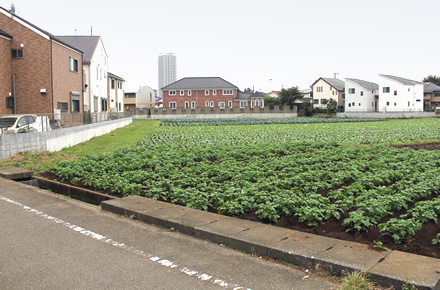
[[[438,141],[440,119],[174,124],[137,146],[61,161],[54,173],[113,194],[439,258],[440,151],[402,146]]]

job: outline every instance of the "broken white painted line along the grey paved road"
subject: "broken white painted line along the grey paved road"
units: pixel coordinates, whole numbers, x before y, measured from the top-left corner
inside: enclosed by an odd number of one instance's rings
[[[5,201],[5,202],[7,202],[9,204],[15,205],[17,207],[20,207],[23,210],[25,210],[25,211],[27,211],[29,213],[35,214],[36,216],[41,217],[43,219],[52,221],[52,222],[54,222],[56,224],[63,225],[65,227],[69,228],[69,229],[72,229],[73,231],[75,231],[77,233],[80,233],[82,235],[85,235],[87,237],[95,239],[97,241],[100,241],[100,242],[103,242],[105,244],[109,244],[109,245],[111,245],[113,247],[116,247],[116,248],[128,251],[128,252],[133,253],[133,254],[135,254],[137,256],[140,256],[140,257],[143,257],[143,258],[147,258],[150,261],[152,261],[152,262],[154,262],[154,263],[156,263],[158,265],[161,265],[163,267],[170,268],[170,269],[178,269],[178,271],[180,273],[183,273],[183,274],[185,274],[187,276],[190,276],[190,277],[195,277],[198,280],[207,281],[207,282],[210,282],[211,284],[214,284],[214,285],[217,285],[217,286],[220,286],[220,287],[223,287],[223,288],[232,288],[234,290],[241,290],[241,289],[251,290],[250,288],[244,288],[244,287],[241,287],[241,286],[239,286],[237,284],[231,284],[231,283],[228,283],[228,282],[226,282],[226,281],[224,281],[222,279],[214,278],[212,275],[209,275],[209,274],[206,274],[206,273],[201,273],[199,271],[192,270],[192,269],[189,269],[187,267],[179,266],[177,264],[174,264],[174,262],[172,262],[170,260],[167,260],[167,259],[164,259],[164,258],[160,258],[160,257],[154,256],[152,254],[145,253],[142,250],[135,249],[132,246],[128,246],[128,245],[126,245],[124,243],[117,242],[117,241],[115,241],[113,239],[107,238],[104,235],[95,233],[93,231],[86,230],[86,229],[84,229],[84,228],[82,228],[80,226],[77,226],[77,225],[71,224],[69,222],[63,221],[63,220],[61,220],[59,218],[50,216],[48,214],[43,213],[42,211],[33,209],[33,208],[29,207],[29,206],[23,205],[23,204],[21,204],[21,203],[19,203],[17,201],[9,199],[7,197],[3,197],[3,196],[0,195],[0,200]]]

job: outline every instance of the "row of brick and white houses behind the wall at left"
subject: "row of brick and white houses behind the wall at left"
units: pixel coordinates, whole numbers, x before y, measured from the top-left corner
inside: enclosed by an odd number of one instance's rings
[[[99,36],[54,36],[0,7],[0,63],[0,114],[124,110]]]

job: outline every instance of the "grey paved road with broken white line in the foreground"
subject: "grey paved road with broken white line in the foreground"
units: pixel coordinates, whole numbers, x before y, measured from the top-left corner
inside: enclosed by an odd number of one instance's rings
[[[0,178],[0,289],[337,287],[306,275]]]

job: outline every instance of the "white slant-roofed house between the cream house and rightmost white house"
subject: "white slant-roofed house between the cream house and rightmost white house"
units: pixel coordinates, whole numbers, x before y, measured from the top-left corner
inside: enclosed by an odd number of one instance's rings
[[[345,112],[376,112],[379,85],[358,79],[345,79]]]

